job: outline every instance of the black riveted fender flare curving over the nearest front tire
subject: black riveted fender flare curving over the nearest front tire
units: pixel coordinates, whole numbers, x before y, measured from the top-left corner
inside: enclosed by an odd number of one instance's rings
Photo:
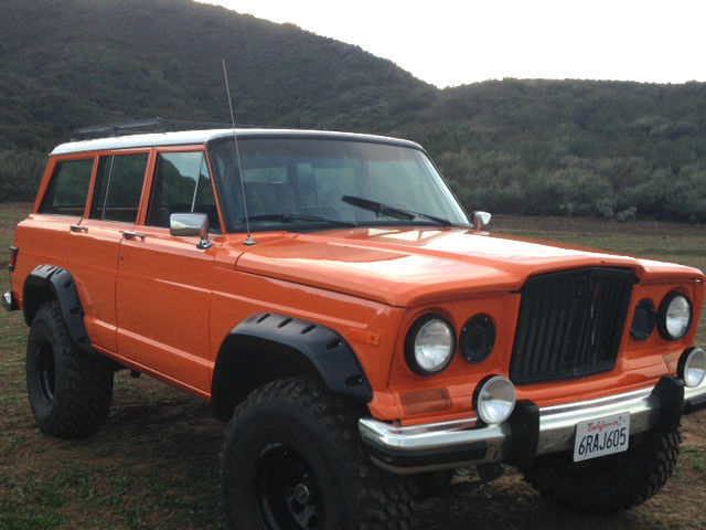
[[[257,312],[233,328],[221,346],[212,385],[215,411],[220,410],[220,403],[231,399],[223,395],[223,392],[244,391],[242,388],[227,389],[227,384],[224,384],[227,370],[223,365],[232,356],[236,356],[231,362],[235,363],[237,372],[247,370],[237,364],[238,351],[257,351],[258,356],[272,354],[272,359],[295,361],[307,367],[307,372],[317,374],[324,386],[335,394],[361,403],[368,403],[373,399],[373,389],[355,352],[336,331],[287,315]],[[276,369],[272,365],[272,372]],[[248,375],[238,373],[236,379],[243,383],[253,383],[248,381]],[[245,389],[245,393],[252,390],[255,389]],[[240,395],[240,399],[244,398],[245,395]]]

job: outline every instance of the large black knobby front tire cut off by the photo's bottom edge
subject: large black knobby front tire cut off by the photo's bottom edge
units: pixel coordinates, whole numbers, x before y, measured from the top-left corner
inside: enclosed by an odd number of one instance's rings
[[[416,528],[409,483],[375,467],[362,447],[356,417],[346,402],[308,379],[279,380],[254,391],[235,410],[221,454],[226,528],[287,528],[286,518],[293,517],[287,515],[288,507],[296,513],[312,513],[303,523],[289,528]],[[291,481],[293,474],[286,473],[287,479],[281,480],[287,488],[297,480],[304,481],[311,494],[304,496],[306,506],[299,504],[299,496],[296,502],[279,502],[279,494],[288,489],[267,486],[274,473],[268,463],[278,452],[278,463],[289,458],[298,463],[297,469],[306,471]]]

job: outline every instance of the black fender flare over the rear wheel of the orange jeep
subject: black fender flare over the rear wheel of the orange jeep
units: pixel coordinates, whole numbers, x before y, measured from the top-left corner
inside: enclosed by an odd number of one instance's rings
[[[32,325],[32,316],[45,299],[33,295],[33,289],[39,293],[50,292],[56,298],[72,341],[78,349],[86,353],[93,353],[94,350],[90,347],[90,339],[84,324],[84,308],[72,274],[55,265],[40,265],[28,275],[22,296],[24,320],[28,326]]]

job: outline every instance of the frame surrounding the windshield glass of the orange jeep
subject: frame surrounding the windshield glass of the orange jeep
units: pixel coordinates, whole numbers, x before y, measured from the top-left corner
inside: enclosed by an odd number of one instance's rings
[[[351,230],[352,227],[463,227],[469,229],[472,227],[472,223],[470,222],[470,216],[463,204],[459,201],[458,197],[443,178],[441,171],[434,162],[431,157],[427,153],[427,151],[419,146],[409,140],[398,139],[398,138],[388,138],[381,136],[372,136],[372,135],[357,135],[353,132],[328,132],[328,131],[236,131],[237,140],[249,140],[249,139],[261,139],[261,140],[277,140],[277,139],[292,139],[292,140],[321,140],[321,141],[346,141],[346,142],[361,142],[361,144],[378,144],[378,145],[388,145],[394,147],[402,147],[407,149],[413,149],[421,153],[421,156],[429,162],[430,168],[436,173],[436,177],[439,180],[439,184],[443,188],[443,190],[449,194],[449,198],[452,200],[454,205],[459,209],[461,215],[466,218],[466,222],[457,223],[451,222],[447,226],[442,226],[439,223],[431,221],[430,219],[414,219],[414,220],[398,220],[398,219],[378,219],[374,221],[364,221],[360,223],[355,223],[351,226],[336,226],[335,224],[327,221],[298,221],[298,222],[282,222],[277,224],[268,224],[267,226],[253,226],[250,223],[250,232],[253,233],[264,233],[264,232],[292,232],[292,233],[304,233],[304,232],[322,232],[322,231],[332,231],[332,230]],[[228,208],[227,204],[227,194],[223,189],[223,182],[220,178],[220,173],[217,168],[215,167],[215,156],[213,155],[213,150],[215,146],[224,141],[233,141],[233,134],[224,134],[216,138],[212,138],[205,144],[206,156],[208,157],[208,163],[211,167],[212,179],[214,181],[216,188],[216,200],[220,203],[221,212],[223,215],[223,222],[225,227],[225,233],[237,234],[245,233],[245,222],[240,222],[239,220],[232,219],[233,212]],[[247,200],[247,197],[246,197]],[[278,212],[272,212],[278,213]]]

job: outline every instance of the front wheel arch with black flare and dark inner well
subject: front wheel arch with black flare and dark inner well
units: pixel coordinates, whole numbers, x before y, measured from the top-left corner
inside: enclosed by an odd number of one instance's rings
[[[211,392],[214,414],[229,420],[253,390],[297,375],[312,377],[359,403],[373,398],[355,352],[336,331],[287,315],[258,312],[233,328],[221,346]]]

